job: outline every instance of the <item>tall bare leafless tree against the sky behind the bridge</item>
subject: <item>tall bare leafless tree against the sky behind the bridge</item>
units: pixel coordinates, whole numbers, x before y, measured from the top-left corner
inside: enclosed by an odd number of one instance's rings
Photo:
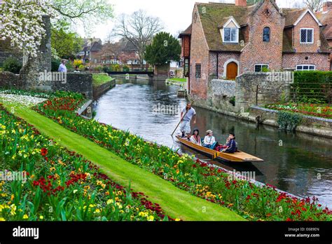
[[[137,48],[137,54],[143,68],[146,46],[151,43],[153,36],[162,30],[159,18],[148,16],[146,12],[139,10],[132,15],[121,15],[113,29],[116,36],[121,36]]]

